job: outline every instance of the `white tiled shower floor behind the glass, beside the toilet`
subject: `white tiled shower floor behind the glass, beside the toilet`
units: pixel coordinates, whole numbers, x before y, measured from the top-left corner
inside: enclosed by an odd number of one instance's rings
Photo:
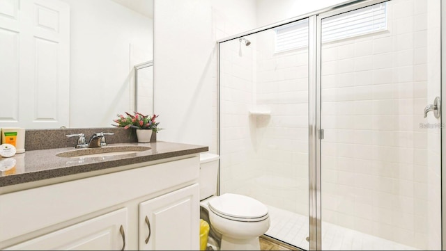
[[[309,250],[308,217],[268,205],[271,217],[266,235]],[[418,250],[407,245],[323,222],[323,250]]]

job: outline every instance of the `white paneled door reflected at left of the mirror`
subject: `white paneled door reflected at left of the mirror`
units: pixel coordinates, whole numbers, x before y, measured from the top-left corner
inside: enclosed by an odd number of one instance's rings
[[[70,6],[0,0],[0,48],[0,127],[68,127]]]

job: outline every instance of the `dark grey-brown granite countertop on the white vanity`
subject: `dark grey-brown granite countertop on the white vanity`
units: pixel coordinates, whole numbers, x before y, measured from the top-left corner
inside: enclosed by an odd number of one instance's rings
[[[59,157],[56,154],[75,150],[74,147],[53,149],[36,149],[15,154],[10,158],[0,158],[2,161],[15,159],[15,168],[0,172],[0,187],[24,184],[31,181],[41,181],[56,177],[66,177],[123,165],[137,164],[146,161],[156,161],[176,156],[207,152],[208,147],[157,141],[154,143],[116,143],[106,147],[123,145],[151,147],[151,149],[130,154],[97,157]],[[10,161],[10,160],[9,160]]]

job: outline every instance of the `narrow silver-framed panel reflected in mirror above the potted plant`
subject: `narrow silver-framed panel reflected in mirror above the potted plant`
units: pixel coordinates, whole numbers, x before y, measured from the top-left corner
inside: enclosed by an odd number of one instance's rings
[[[136,111],[153,114],[153,60],[134,66],[136,83]]]

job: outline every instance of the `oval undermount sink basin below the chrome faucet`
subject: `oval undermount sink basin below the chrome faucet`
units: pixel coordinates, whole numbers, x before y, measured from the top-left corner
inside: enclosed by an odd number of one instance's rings
[[[56,156],[63,158],[73,157],[104,157],[116,156],[121,154],[133,154],[135,152],[143,152],[151,149],[151,147],[143,147],[141,145],[120,145],[95,148],[73,149],[67,152],[59,152]]]

